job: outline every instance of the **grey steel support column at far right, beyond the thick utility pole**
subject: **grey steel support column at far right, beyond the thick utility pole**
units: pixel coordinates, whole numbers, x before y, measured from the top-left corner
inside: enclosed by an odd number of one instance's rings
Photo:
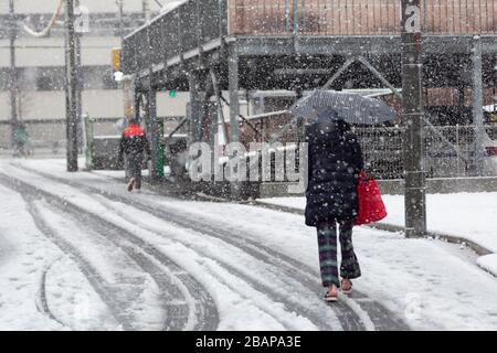
[[[483,98],[483,68],[482,68],[482,39],[476,36],[473,47],[473,125],[475,127],[475,145],[473,158],[473,173],[482,176],[484,173],[484,98]]]

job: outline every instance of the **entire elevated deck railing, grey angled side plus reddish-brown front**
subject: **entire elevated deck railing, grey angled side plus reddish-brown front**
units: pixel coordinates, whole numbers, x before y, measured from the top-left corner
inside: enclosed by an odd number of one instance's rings
[[[226,35],[396,35],[399,0],[190,0],[126,36],[123,67],[136,73]],[[424,32],[497,34],[495,0],[423,0]]]

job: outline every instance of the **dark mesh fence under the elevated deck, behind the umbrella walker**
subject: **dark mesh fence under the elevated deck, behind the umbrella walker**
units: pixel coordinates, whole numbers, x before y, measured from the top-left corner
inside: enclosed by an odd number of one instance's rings
[[[241,137],[245,146],[250,142],[268,142],[284,125],[283,117],[251,120],[248,126],[242,124]],[[286,120],[285,120],[286,121]],[[256,128],[260,133],[254,133]],[[488,153],[497,151],[497,125],[485,127],[484,146]],[[367,170],[378,179],[403,179],[403,129],[399,127],[361,127],[355,128],[364,154]],[[297,138],[296,126],[281,136],[282,143],[294,145]],[[425,127],[424,167],[427,178],[475,176],[474,145],[476,129],[474,126]],[[491,147],[490,147],[491,146]],[[478,176],[497,176],[497,157],[484,158],[483,174]]]

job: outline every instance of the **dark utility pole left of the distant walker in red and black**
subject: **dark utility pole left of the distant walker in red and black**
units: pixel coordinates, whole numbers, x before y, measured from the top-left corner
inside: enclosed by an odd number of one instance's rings
[[[77,78],[76,78],[76,33],[74,31],[74,0],[66,0],[66,138],[67,171],[77,171]]]

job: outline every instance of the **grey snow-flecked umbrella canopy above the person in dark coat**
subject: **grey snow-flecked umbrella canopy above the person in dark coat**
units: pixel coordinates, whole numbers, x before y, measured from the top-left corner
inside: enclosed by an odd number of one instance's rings
[[[376,125],[395,118],[395,113],[384,101],[351,93],[320,89],[299,99],[289,113],[294,118],[314,118],[324,108],[334,109],[340,119],[349,124]]]

